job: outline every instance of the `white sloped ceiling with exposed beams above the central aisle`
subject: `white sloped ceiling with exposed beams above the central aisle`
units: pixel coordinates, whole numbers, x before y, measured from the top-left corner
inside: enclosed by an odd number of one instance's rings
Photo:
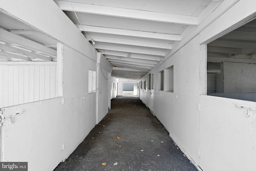
[[[198,16],[211,3],[220,0],[54,2],[95,42],[94,48],[112,64],[112,76],[139,80],[182,40],[186,29],[198,25]]]

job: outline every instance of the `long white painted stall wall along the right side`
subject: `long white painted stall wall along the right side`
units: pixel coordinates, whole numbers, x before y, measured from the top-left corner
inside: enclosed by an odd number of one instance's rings
[[[254,171],[255,113],[245,117],[245,109],[238,109],[234,104],[252,108],[256,107],[256,103],[200,95],[206,94],[207,84],[206,46],[201,44],[215,40],[256,16],[252,1],[240,0],[234,6],[230,3],[224,0],[201,26],[192,31],[190,35],[195,33],[196,37],[188,43],[184,42],[191,36],[182,40],[172,50],[172,56],[151,71],[154,74],[153,108],[147,100],[150,97],[147,91],[140,89],[140,99],[163,123],[170,137],[192,163],[202,170]],[[256,5],[256,2],[253,4]],[[172,65],[174,92],[160,91],[158,74]],[[255,71],[252,73],[255,75]],[[147,76],[144,76],[140,81],[146,79]]]

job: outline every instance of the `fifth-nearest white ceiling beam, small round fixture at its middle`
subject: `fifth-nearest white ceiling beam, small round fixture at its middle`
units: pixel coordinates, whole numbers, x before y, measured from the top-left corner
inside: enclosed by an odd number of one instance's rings
[[[112,56],[121,56],[121,57],[128,57],[130,55],[130,58],[136,58],[136,59],[144,59],[144,60],[153,60],[153,61],[160,61],[160,57],[158,56],[146,56],[146,55],[138,55],[138,54],[129,54],[124,52],[113,52],[113,51],[107,51],[107,50],[99,50],[103,55],[112,55]]]

